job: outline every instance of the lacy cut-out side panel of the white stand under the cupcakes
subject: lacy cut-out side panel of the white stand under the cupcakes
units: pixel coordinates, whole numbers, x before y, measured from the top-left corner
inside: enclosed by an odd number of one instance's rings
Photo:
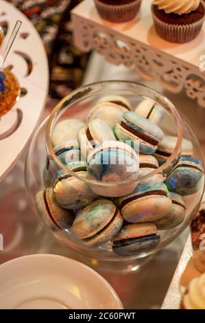
[[[134,66],[143,78],[157,79],[162,87],[173,93],[184,89],[189,98],[205,107],[205,72],[194,65],[75,14],[73,28],[75,43],[85,52],[95,49],[111,63]]]

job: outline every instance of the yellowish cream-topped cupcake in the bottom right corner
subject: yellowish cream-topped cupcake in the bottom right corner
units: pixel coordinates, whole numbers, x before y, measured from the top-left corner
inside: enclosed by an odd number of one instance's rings
[[[191,280],[182,298],[182,309],[205,309],[205,274]]]

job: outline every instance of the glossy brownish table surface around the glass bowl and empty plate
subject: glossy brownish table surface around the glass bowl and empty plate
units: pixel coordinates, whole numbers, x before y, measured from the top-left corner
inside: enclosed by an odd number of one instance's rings
[[[95,70],[92,69],[93,65],[96,67]],[[99,54],[93,54],[84,78],[84,84],[109,78],[123,78],[124,80],[128,79],[145,82],[140,77],[136,79],[134,71],[128,70],[125,67],[116,67],[105,62],[104,58]],[[148,84],[162,91],[158,83],[148,82]],[[183,113],[187,113],[187,118],[193,118],[192,114],[189,115],[190,111],[186,110],[187,104],[193,104],[190,99],[186,98],[186,100],[184,100],[184,95],[181,95],[171,96],[171,100],[173,100],[182,111],[184,109]],[[45,112],[44,118],[47,113],[48,111]],[[195,124],[198,124],[197,120],[195,120]],[[200,134],[203,134],[200,126],[198,127],[197,132],[199,136]],[[203,145],[203,147],[205,148],[205,145]],[[176,239],[176,241],[171,243],[171,245],[161,252],[158,252],[158,254],[149,259],[149,261],[147,260],[147,263],[145,263],[141,269],[128,272],[119,271],[118,268],[113,270],[112,267],[111,270],[106,263],[100,263],[92,258],[80,256],[80,254],[58,245],[52,236],[47,234],[43,227],[40,226],[32,210],[29,208],[25,194],[25,185],[23,181],[24,162],[25,156],[19,159],[12,172],[10,172],[10,174],[5,177],[4,181],[0,183],[0,214],[2,212],[5,213],[6,210],[10,210],[10,212],[8,212],[8,219],[12,218],[12,221],[18,223],[20,227],[19,235],[14,234],[15,239],[14,241],[11,241],[9,252],[0,252],[0,263],[17,256],[39,253],[60,254],[75,258],[93,267],[93,269],[97,270],[99,274],[110,282],[121,298],[125,309],[160,309],[176,268],[178,266],[181,268],[182,266],[181,261],[179,263],[179,260],[184,245],[186,244],[189,230],[186,230]],[[157,290],[158,292],[154,293],[154,290]],[[179,300],[180,294],[178,287],[176,287],[175,293],[178,294]],[[167,301],[164,303],[163,307],[165,307],[166,304]],[[169,305],[166,306],[169,307]],[[174,304],[173,306],[176,307],[178,305]]]

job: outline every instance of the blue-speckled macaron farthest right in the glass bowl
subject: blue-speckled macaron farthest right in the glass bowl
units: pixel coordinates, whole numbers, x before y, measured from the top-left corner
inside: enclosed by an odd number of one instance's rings
[[[180,157],[178,164],[165,180],[171,192],[182,196],[194,194],[204,186],[204,170],[197,159],[190,156]]]

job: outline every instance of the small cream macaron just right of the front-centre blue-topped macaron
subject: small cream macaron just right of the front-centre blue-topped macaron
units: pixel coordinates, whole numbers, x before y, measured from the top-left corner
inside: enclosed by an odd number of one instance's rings
[[[138,171],[138,180],[140,183],[154,184],[162,183],[165,181],[162,172],[151,175],[154,170],[157,170],[159,167],[157,159],[153,155],[139,155],[139,171]],[[150,175],[147,179],[142,179],[143,177]]]

